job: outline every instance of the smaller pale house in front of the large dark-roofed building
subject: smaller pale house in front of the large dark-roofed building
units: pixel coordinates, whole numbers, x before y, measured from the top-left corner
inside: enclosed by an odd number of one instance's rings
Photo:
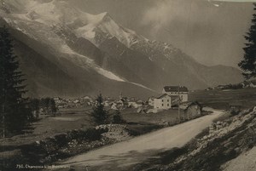
[[[154,98],[154,109],[170,109],[172,107],[172,98],[168,94],[161,94]]]

